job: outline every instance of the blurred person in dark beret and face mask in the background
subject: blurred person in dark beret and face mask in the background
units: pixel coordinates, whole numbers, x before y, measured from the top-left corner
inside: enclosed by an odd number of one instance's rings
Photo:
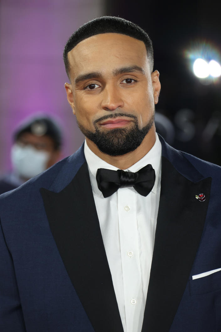
[[[54,165],[61,155],[61,129],[48,116],[37,115],[15,130],[12,172],[0,179],[0,194],[15,189]]]

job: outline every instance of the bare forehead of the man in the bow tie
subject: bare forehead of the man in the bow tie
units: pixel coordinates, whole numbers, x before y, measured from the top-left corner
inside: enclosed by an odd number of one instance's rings
[[[68,52],[70,76],[82,71],[108,71],[138,65],[145,70],[147,52],[143,41],[123,34],[107,33],[89,37]]]

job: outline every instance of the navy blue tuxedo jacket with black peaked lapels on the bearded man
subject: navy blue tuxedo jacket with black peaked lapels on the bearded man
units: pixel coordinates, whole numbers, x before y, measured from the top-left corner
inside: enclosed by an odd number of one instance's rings
[[[161,143],[142,332],[221,331],[221,271],[192,280],[221,268],[221,168]],[[1,195],[0,219],[1,332],[123,332],[83,146]]]

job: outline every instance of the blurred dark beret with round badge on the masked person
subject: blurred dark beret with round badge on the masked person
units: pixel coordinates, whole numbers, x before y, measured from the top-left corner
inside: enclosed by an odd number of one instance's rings
[[[25,119],[14,132],[14,142],[18,141],[26,132],[37,136],[49,136],[53,140],[54,150],[61,148],[61,128],[58,123],[49,116],[38,115]]]

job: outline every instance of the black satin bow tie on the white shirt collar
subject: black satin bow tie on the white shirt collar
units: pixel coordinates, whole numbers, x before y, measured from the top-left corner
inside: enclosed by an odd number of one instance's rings
[[[99,168],[96,174],[98,188],[103,196],[109,197],[119,188],[134,187],[142,196],[147,196],[155,182],[155,171],[151,164],[141,168],[138,172],[125,172],[121,169],[113,171],[111,169]]]

